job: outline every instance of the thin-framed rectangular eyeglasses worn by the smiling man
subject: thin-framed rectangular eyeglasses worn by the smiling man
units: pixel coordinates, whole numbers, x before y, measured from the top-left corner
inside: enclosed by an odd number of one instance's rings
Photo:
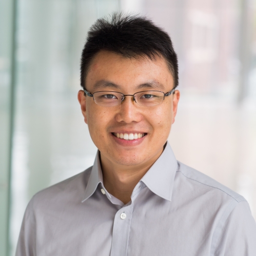
[[[89,97],[93,97],[94,102],[97,105],[104,107],[113,107],[122,104],[126,96],[132,96],[134,102],[141,106],[156,106],[161,104],[165,96],[169,96],[174,93],[175,88],[173,88],[169,92],[162,91],[140,91],[136,92],[133,95],[123,94],[121,92],[116,91],[97,91],[94,93],[90,93],[86,89],[84,89],[85,95]]]

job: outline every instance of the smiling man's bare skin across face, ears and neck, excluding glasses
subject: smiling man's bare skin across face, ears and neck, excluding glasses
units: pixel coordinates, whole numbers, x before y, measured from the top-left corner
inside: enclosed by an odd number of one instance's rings
[[[94,88],[99,81],[109,81],[118,86],[103,85]],[[152,84],[152,81],[154,83]],[[147,84],[143,88],[139,85]],[[164,58],[151,61],[146,57],[125,58],[121,55],[100,51],[94,57],[86,77],[86,89],[95,91],[118,91],[134,94],[145,90],[170,91],[173,77]],[[161,84],[162,89],[155,87]],[[150,87],[151,86],[151,87]],[[136,184],[142,179],[163,152],[171,125],[174,123],[180,92],[165,97],[157,106],[144,107],[127,96],[119,106],[96,105],[92,97],[78,92],[85,123],[92,141],[101,152],[104,186],[109,193],[127,204]],[[116,139],[112,132],[147,133],[141,140]]]

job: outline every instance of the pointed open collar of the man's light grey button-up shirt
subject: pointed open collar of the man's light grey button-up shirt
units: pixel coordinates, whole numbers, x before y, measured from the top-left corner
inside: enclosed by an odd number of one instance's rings
[[[178,163],[170,144],[167,142],[163,153],[146,172],[141,179],[141,182],[143,182],[153,193],[161,196],[163,199],[171,201],[174,176],[177,168]],[[82,202],[86,201],[95,192],[99,183],[103,186],[100,151],[98,150]]]

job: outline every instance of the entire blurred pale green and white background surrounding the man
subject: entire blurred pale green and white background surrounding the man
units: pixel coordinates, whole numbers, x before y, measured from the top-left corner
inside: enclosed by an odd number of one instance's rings
[[[256,0],[0,0],[0,254],[34,193],[91,166],[76,100],[89,27],[113,11],[164,28],[179,56],[176,158],[241,193],[256,218]]]

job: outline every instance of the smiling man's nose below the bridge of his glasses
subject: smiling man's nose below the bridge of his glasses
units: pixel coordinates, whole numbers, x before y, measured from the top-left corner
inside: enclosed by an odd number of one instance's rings
[[[134,101],[133,95],[125,95],[122,104],[119,105],[119,110],[116,114],[116,121],[129,124],[132,122],[140,122],[141,119],[142,115],[138,105]]]

